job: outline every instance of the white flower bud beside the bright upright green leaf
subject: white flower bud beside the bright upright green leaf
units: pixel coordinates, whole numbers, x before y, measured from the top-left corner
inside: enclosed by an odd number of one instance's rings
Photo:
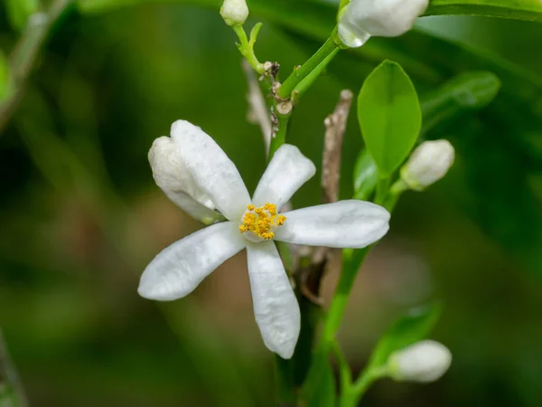
[[[449,141],[425,141],[401,168],[401,178],[409,188],[421,191],[446,175],[454,158],[455,151]]]

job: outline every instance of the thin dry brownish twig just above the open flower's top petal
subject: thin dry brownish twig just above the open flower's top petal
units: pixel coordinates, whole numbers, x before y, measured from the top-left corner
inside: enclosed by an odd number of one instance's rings
[[[269,154],[269,146],[271,145],[272,131],[269,109],[267,109],[266,99],[264,98],[257,81],[256,72],[252,69],[247,60],[243,60],[242,65],[248,82],[248,121],[259,125],[262,131],[262,137],[264,137],[267,156]]]

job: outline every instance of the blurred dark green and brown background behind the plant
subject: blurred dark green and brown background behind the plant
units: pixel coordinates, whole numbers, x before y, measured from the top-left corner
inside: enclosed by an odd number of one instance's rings
[[[334,18],[332,2],[290,2],[276,7],[291,14],[254,2],[250,20],[265,23],[257,55],[281,62],[283,78]],[[217,9],[184,3],[71,7],[0,133],[0,327],[32,406],[275,403],[273,357],[254,322],[244,254],[189,298],[156,304],[136,293],[146,263],[200,227],[154,185],[146,159],[154,138],[184,118],[218,141],[249,190],[265,168],[259,129],[246,119],[234,34]],[[5,53],[18,36],[3,7]],[[441,298],[434,338],[452,350],[452,368],[428,385],[378,383],[363,405],[539,407],[542,25],[426,17],[416,32],[369,43],[341,53],[295,111],[289,142],[318,165],[322,122],[340,90],[358,91],[384,58],[401,62],[421,95],[471,70],[495,71],[502,91],[489,108],[428,133],[450,138],[456,166],[427,192],[405,194],[341,328],[359,371],[397,315]],[[352,115],[344,198],[361,146]],[[294,205],[318,203],[319,175]]]

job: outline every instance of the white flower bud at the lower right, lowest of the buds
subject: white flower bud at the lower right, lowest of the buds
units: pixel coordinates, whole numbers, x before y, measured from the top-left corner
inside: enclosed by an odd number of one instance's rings
[[[450,350],[425,340],[394,352],[388,359],[389,376],[397,382],[435,382],[452,364]]]

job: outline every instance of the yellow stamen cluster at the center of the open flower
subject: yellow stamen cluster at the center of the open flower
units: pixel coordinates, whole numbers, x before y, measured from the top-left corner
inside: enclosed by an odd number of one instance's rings
[[[270,241],[275,237],[273,231],[285,222],[285,215],[276,213],[276,204],[260,207],[250,204],[239,224],[239,232],[250,241]]]

